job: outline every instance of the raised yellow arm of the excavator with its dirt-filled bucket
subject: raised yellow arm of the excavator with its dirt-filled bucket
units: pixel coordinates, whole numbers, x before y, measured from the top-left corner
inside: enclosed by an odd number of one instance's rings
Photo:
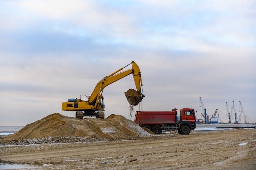
[[[129,66],[130,64],[132,64],[131,69],[120,72],[124,68]],[[129,94],[132,93],[132,95],[126,95],[126,98],[127,98],[128,102],[131,105],[137,105],[139,102],[141,102],[144,95],[143,95],[143,92],[141,91],[141,88],[142,88],[143,84],[142,84],[142,80],[141,80],[141,73],[140,73],[140,70],[139,70],[139,66],[134,61],[132,61],[130,64],[128,64],[124,68],[120,68],[119,70],[117,70],[114,73],[104,77],[101,81],[99,81],[97,83],[97,85],[95,86],[94,91],[92,92],[92,95],[88,99],[89,104],[91,104],[91,105],[94,104],[94,107],[97,108],[99,106],[99,102],[100,102],[100,99],[102,97],[103,89],[106,86],[108,86],[108,85],[118,81],[119,79],[122,79],[122,78],[130,75],[130,74],[132,74],[132,76],[134,78],[137,93],[135,93],[133,89],[130,89],[126,93],[129,93]],[[134,98],[136,98],[136,99],[134,99]]]

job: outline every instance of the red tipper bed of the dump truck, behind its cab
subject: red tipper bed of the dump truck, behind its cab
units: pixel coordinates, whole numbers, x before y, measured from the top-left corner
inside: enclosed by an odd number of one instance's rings
[[[136,111],[135,123],[137,124],[174,124],[173,111]]]

